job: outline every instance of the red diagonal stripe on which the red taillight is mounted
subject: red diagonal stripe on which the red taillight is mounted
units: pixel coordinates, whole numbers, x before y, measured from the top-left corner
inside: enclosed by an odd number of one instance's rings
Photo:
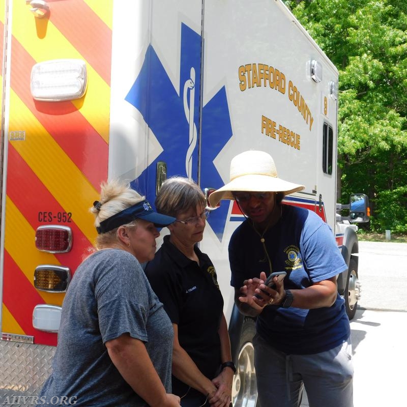
[[[40,221],[39,215],[43,216],[43,212],[52,212],[53,214],[65,212],[65,209],[45,188],[11,143],[8,147],[7,195],[33,229],[46,224]],[[40,199],[36,199],[36,197],[40,197]],[[89,207],[91,205],[90,202]],[[89,221],[92,222],[92,216],[89,217]],[[93,251],[93,245],[73,221],[58,224],[69,226],[72,229],[73,245],[68,253],[54,255],[63,266],[69,267],[73,274],[83,256]]]

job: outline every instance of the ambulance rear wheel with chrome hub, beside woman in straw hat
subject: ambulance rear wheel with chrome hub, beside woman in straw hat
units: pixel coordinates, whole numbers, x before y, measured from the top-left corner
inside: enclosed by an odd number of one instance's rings
[[[256,372],[252,344],[256,327],[252,318],[245,317],[239,344],[239,360],[232,384],[234,407],[260,407],[257,402]]]

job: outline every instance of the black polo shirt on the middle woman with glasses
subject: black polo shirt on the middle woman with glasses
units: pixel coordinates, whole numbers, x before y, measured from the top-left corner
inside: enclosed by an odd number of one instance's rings
[[[178,325],[180,345],[198,369],[212,380],[221,364],[218,334],[223,298],[212,261],[197,246],[196,261],[186,257],[164,237],[146,266],[146,275],[171,322]],[[184,395],[188,386],[172,376],[172,392]]]

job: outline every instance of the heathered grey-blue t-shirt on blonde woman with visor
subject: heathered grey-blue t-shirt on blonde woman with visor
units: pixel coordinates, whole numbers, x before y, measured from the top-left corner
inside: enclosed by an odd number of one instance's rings
[[[52,373],[41,400],[66,396],[75,397],[76,406],[147,406],[113,365],[104,345],[124,333],[144,342],[169,393],[171,322],[137,259],[123,250],[101,250],[82,262],[69,285]]]

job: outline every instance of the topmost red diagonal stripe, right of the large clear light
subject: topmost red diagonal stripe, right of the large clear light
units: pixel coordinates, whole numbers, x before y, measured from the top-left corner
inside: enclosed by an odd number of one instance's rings
[[[50,21],[110,86],[110,28],[81,0],[51,2],[49,6]]]

